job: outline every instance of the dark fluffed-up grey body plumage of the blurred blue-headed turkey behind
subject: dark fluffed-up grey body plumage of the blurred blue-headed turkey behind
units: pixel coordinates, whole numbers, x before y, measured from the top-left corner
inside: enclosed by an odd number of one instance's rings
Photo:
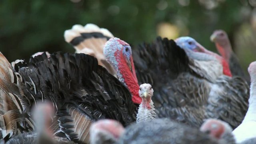
[[[213,76],[166,38],[140,45],[133,58],[139,84],[150,83],[154,88],[152,100],[158,117],[196,127],[206,118],[220,118],[233,128],[242,122],[249,95],[243,79]]]

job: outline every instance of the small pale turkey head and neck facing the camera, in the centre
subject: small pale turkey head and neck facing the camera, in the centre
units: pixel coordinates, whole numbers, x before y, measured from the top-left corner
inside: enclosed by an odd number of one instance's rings
[[[137,122],[150,122],[156,118],[154,103],[151,100],[153,92],[150,84],[140,85],[139,95],[142,98],[142,103],[139,106]]]

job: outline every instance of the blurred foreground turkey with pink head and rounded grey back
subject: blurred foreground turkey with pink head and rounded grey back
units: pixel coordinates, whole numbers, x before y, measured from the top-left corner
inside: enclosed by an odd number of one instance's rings
[[[116,120],[92,124],[92,144],[226,144],[185,124],[167,118],[131,124],[125,129]]]

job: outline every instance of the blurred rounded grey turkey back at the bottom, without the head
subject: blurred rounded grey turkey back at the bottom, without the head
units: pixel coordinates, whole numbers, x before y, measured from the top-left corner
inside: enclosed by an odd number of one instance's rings
[[[128,126],[118,144],[220,144],[207,134],[168,119]]]

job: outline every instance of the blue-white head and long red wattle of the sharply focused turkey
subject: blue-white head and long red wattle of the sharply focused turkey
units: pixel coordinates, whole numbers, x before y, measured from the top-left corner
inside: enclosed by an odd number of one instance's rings
[[[104,47],[106,60],[114,67],[117,77],[132,93],[132,101],[141,103],[138,80],[134,70],[132,49],[129,44],[119,38],[110,38]]]

